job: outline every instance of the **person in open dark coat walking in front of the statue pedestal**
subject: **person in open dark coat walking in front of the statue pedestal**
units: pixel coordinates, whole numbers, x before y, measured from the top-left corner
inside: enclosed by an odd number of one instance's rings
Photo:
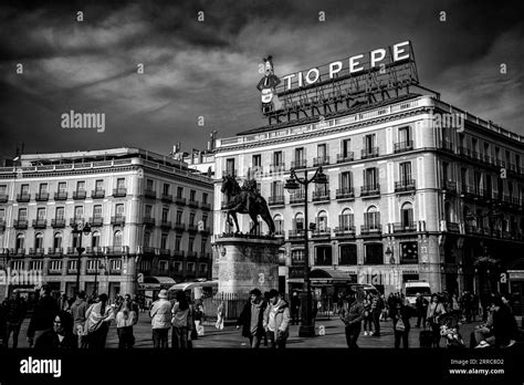
[[[242,336],[249,339],[252,348],[260,347],[262,337],[265,334],[263,321],[266,305],[262,299],[262,292],[259,289],[251,290],[250,300],[244,305],[237,321],[237,329],[242,326]]]

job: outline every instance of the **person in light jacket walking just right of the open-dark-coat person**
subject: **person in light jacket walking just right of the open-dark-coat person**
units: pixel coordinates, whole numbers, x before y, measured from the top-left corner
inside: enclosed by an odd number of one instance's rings
[[[285,348],[290,335],[290,306],[275,289],[270,290],[269,298],[263,325],[270,340],[270,347]]]

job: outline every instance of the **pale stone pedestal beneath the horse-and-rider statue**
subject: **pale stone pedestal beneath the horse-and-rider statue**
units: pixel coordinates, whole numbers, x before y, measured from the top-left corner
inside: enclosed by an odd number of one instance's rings
[[[214,242],[219,293],[248,294],[279,290],[279,248],[273,238],[224,237]]]

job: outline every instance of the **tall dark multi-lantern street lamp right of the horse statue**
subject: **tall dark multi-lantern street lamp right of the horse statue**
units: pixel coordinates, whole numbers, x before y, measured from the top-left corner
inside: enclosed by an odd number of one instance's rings
[[[327,177],[324,174],[322,167],[318,167],[311,179],[307,179],[307,169],[304,170],[304,177],[298,178],[294,168],[291,169],[291,176],[285,181],[284,188],[287,190],[296,190],[300,185],[304,186],[304,285],[306,289],[306,306],[305,311],[302,311],[301,327],[298,329],[298,336],[307,337],[315,336],[315,326],[313,325],[313,298],[311,294],[311,280],[310,280],[310,246],[308,246],[308,219],[307,219],[307,186],[311,183],[318,185],[327,185]]]

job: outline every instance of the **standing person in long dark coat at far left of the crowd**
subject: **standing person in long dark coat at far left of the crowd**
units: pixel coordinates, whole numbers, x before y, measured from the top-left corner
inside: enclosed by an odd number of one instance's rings
[[[36,303],[33,316],[28,327],[28,342],[32,346],[36,344],[38,339],[45,332],[53,330],[54,318],[60,309],[56,301],[51,296],[51,289],[42,285],[40,289],[40,300]]]

